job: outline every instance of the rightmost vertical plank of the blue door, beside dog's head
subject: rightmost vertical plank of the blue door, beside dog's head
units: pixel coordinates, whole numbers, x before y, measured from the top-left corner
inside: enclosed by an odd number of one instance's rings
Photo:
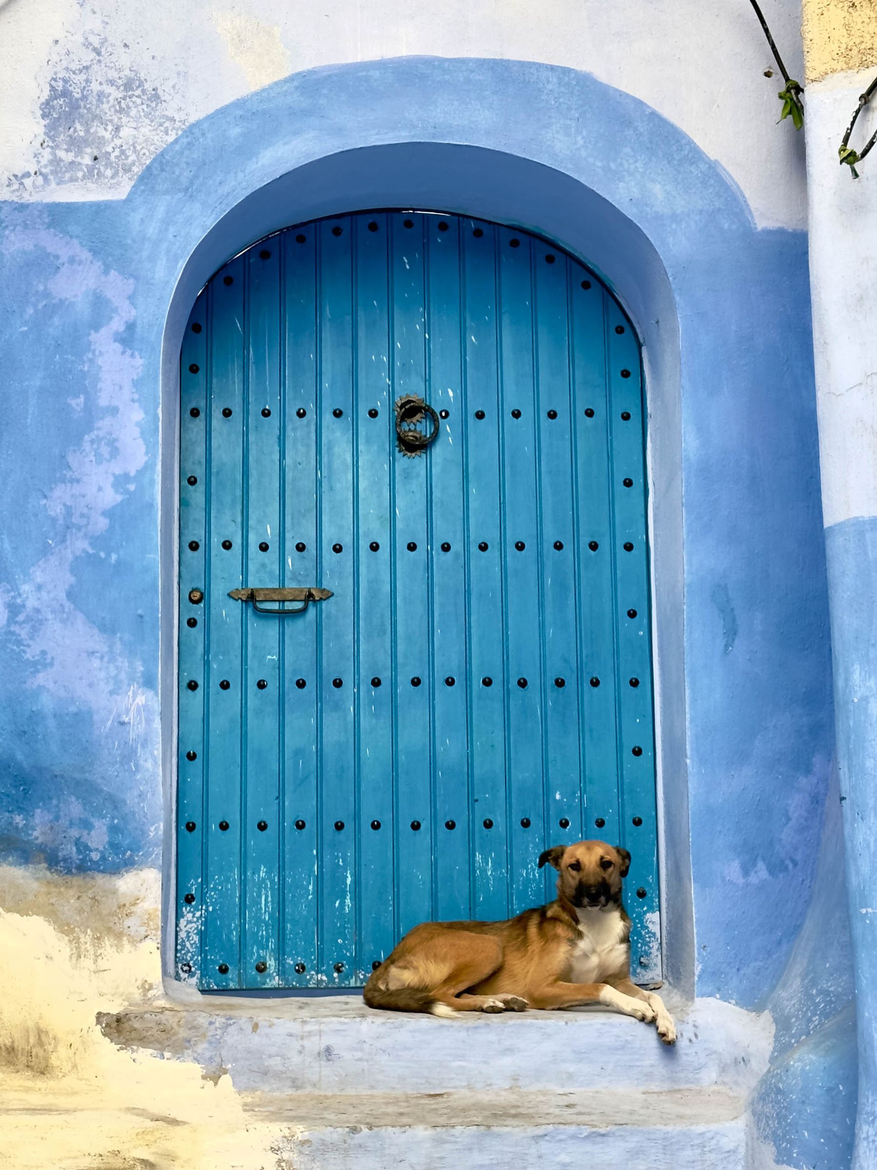
[[[627,879],[627,909],[634,922],[631,966],[635,978],[650,980],[661,978],[661,930],[645,532],[645,420],[638,346],[629,322],[614,302],[608,303],[607,338],[619,622],[621,844],[631,854]],[[628,617],[628,608],[636,611],[636,618]]]

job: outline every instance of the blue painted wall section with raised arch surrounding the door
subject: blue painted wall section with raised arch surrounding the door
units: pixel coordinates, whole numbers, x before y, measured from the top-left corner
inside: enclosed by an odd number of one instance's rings
[[[364,149],[387,144],[416,145]],[[812,902],[833,757],[806,239],[758,230],[679,130],[573,70],[402,58],[294,75],[186,130],[123,201],[2,207],[4,851],[69,870],[159,860],[163,377],[228,253],[366,200],[553,235],[637,324],[664,893],[684,903],[690,876],[696,934],[679,925],[677,949],[693,945],[698,993],[765,1006]]]

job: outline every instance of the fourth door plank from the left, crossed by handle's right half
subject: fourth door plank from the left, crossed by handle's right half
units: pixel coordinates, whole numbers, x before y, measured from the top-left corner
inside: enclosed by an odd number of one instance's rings
[[[282,241],[284,585],[319,585],[317,541],[317,303],[316,228]],[[331,600],[331,599],[330,599]],[[323,604],[323,603],[322,603]],[[281,622],[283,688],[283,948],[282,982],[316,986],[317,913],[317,606]]]

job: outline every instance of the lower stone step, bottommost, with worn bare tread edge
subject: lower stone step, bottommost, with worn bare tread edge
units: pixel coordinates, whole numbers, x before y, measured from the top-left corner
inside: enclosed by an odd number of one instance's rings
[[[423,1054],[429,1064],[429,1053]],[[295,1170],[744,1170],[744,1101],[724,1088],[244,1096]]]

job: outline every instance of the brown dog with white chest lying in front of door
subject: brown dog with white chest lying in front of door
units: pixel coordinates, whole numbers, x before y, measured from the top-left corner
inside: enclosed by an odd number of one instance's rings
[[[664,1044],[676,1028],[663,1000],[630,982],[630,918],[621,880],[630,854],[605,841],[546,849],[558,897],[506,922],[424,922],[410,930],[362,992],[401,1012],[522,1012],[603,1004],[645,1024]]]

